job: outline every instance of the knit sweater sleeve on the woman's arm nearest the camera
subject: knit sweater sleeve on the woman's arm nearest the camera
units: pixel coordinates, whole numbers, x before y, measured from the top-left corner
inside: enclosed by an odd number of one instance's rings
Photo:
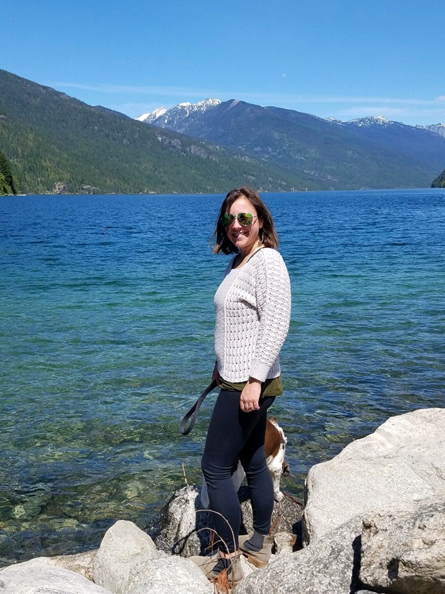
[[[258,258],[256,298],[259,329],[251,364],[252,378],[264,382],[288,335],[290,280],[283,258],[274,249],[262,249]]]

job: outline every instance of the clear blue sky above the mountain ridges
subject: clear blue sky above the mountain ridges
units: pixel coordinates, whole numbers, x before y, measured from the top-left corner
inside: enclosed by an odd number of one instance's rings
[[[136,117],[217,97],[445,123],[445,0],[3,0],[0,68]]]

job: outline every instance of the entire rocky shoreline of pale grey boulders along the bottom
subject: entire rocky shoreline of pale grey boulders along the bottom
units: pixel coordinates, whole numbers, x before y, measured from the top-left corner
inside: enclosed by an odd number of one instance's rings
[[[240,489],[242,532],[251,506]],[[171,497],[147,534],[116,521],[97,551],[0,569],[5,594],[201,594],[216,586],[188,560],[209,546],[199,489]],[[236,594],[445,594],[445,408],[391,417],[309,471],[305,504],[275,503],[274,554],[242,558]]]

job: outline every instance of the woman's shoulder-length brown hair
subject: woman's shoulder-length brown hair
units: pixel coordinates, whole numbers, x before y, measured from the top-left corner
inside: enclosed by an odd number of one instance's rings
[[[259,230],[258,238],[264,247],[278,247],[278,236],[275,231],[275,225],[273,223],[272,215],[269,212],[266,204],[259,197],[259,194],[249,188],[249,186],[243,186],[242,188],[235,188],[225,197],[218,214],[218,220],[216,221],[215,230],[213,232],[210,243],[214,246],[213,253],[239,253],[238,247],[235,247],[233,243],[227,238],[226,228],[223,223],[224,215],[228,212],[238,198],[244,197],[255,207],[257,211],[259,221],[262,221],[263,226]]]

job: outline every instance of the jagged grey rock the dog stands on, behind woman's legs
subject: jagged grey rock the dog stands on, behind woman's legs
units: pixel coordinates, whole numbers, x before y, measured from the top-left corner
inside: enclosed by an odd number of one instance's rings
[[[253,530],[253,515],[246,486],[241,486],[238,497],[242,517],[240,533],[248,534]],[[285,496],[281,502],[275,502],[272,513],[274,533],[299,533],[302,514],[303,505],[294,497]],[[158,549],[169,554],[189,557],[208,552],[208,547],[212,547],[213,528],[213,514],[201,506],[199,489],[185,486],[173,494],[149,532]]]

